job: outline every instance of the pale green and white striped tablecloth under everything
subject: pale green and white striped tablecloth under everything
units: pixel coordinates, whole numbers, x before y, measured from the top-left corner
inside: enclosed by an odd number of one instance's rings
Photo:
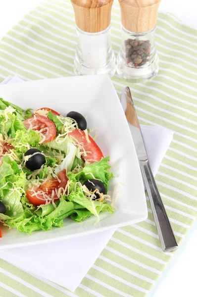
[[[118,2],[111,23],[117,53]],[[0,41],[0,80],[15,73],[25,80],[73,75],[76,45],[70,1],[43,2]],[[156,182],[180,244],[197,217],[197,31],[171,14],[159,13],[156,48],[160,70],[152,81],[129,84],[117,75],[112,81],[118,94],[131,87],[142,124],[174,131]],[[0,260],[0,296],[145,297],[173,256],[162,252],[148,200],[147,205],[148,219],[115,232],[75,293]]]

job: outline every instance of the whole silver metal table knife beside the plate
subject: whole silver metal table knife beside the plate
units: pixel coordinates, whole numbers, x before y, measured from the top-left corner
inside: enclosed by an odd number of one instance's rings
[[[149,166],[147,151],[129,87],[123,89],[121,99],[123,98],[124,100],[126,99],[127,106],[125,115],[129,123],[142,176],[147,188],[161,247],[165,252],[176,250],[178,245]]]

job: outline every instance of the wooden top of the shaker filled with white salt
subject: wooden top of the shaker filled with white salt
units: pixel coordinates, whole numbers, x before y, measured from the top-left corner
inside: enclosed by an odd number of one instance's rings
[[[109,26],[113,0],[71,0],[71,2],[76,25],[82,31],[96,33]]]

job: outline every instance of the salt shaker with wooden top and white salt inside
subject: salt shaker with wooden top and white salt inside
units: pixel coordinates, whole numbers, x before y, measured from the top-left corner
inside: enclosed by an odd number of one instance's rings
[[[113,0],[71,0],[77,25],[76,75],[115,73],[110,21]]]

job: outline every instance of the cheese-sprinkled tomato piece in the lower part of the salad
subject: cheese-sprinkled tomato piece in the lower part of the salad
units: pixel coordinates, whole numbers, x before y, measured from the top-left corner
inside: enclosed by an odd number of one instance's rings
[[[38,187],[34,187],[34,191],[38,192],[38,191],[43,191],[49,198],[51,198],[52,195],[52,191],[54,191],[54,201],[58,200],[59,198],[57,197],[56,193],[55,193],[55,189],[58,191],[60,188],[65,189],[68,178],[66,176],[66,170],[62,170],[57,174],[58,179],[60,180],[60,182],[56,179],[56,178],[51,178],[48,181],[44,182],[39,188]],[[63,191],[62,191],[63,192]],[[41,205],[41,204],[45,204],[47,198],[45,198],[44,195],[42,194],[36,194],[34,195],[34,192],[32,190],[26,190],[26,195],[27,195],[27,199],[29,200],[30,203],[32,203],[33,205]],[[46,200],[44,200],[46,199]]]

